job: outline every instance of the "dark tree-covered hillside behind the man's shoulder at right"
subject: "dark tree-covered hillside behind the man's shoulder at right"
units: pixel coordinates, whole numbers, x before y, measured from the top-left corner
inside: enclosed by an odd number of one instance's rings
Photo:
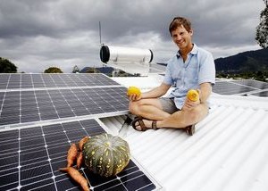
[[[217,72],[268,71],[268,48],[215,59]]]

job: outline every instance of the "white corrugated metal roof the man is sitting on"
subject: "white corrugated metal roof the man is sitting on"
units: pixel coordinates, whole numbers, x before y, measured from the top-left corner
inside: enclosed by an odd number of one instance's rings
[[[154,78],[115,80],[147,89],[161,82]],[[130,126],[120,136],[163,190],[268,190],[268,98],[212,95],[210,102],[192,137],[180,129],[138,132]],[[101,120],[118,135],[123,118]]]

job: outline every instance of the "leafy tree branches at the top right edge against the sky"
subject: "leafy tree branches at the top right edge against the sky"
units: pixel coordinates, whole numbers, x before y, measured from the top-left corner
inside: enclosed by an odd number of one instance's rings
[[[260,24],[256,28],[255,39],[259,46],[268,47],[268,0],[264,0],[265,8],[260,14]]]

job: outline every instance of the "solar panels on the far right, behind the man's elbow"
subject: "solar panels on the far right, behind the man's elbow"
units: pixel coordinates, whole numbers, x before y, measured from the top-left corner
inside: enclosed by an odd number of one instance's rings
[[[213,92],[221,95],[268,96],[268,83],[254,79],[216,81]]]

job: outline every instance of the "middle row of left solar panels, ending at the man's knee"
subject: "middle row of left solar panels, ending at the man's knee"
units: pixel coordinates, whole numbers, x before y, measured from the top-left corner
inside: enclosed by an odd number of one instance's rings
[[[0,127],[83,115],[127,113],[126,87],[17,90],[0,94]]]

